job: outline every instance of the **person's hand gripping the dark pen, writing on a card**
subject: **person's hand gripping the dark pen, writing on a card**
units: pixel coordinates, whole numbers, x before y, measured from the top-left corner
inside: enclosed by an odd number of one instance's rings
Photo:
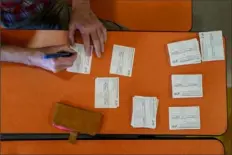
[[[67,52],[72,52],[74,54],[71,57],[44,59],[45,54],[57,53],[59,51],[67,51]],[[77,53],[66,45],[45,47],[45,48],[36,49],[36,52],[34,52],[30,56],[30,65],[41,67],[43,69],[56,73],[61,70],[65,70],[68,67],[71,67],[73,65],[73,62],[76,60],[76,58],[77,58]]]

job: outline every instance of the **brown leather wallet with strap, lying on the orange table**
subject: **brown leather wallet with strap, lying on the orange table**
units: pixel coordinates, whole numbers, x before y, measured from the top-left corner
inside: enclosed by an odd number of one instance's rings
[[[100,131],[102,114],[63,103],[57,103],[53,118],[54,127],[68,131],[73,135],[79,133],[95,135]],[[73,134],[76,133],[76,134]],[[70,138],[73,141],[73,137]]]

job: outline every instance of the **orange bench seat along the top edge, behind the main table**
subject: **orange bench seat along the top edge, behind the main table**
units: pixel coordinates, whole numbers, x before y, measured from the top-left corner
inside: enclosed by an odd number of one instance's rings
[[[91,8],[98,17],[130,30],[190,31],[192,28],[192,0],[91,0]]]

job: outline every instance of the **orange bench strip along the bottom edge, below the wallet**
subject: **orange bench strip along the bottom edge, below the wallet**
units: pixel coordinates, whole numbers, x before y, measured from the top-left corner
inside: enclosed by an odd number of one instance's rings
[[[217,140],[97,140],[1,142],[1,154],[224,155]]]

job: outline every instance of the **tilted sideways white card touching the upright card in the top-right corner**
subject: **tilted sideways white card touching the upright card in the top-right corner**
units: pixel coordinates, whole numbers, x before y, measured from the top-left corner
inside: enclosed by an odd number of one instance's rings
[[[197,39],[168,44],[171,66],[201,63],[201,53]]]

